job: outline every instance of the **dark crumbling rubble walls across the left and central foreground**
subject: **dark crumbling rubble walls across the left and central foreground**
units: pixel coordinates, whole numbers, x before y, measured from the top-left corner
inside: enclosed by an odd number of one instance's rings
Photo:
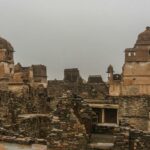
[[[0,100],[1,141],[46,144],[53,150],[87,149],[89,134],[84,120],[89,118],[88,113],[92,110],[87,104],[84,110],[81,110],[81,106],[76,109],[77,105],[84,106],[81,98],[79,103],[79,98],[63,95],[58,99],[55,109],[51,109],[51,98],[45,89],[33,90],[21,97],[1,91]]]

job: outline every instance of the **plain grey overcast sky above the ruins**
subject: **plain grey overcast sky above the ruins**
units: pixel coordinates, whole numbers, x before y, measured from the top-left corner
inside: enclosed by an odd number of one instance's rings
[[[150,25],[150,0],[0,0],[0,36],[11,42],[15,62],[45,64],[49,79],[78,67],[106,78],[121,72],[124,49]]]

